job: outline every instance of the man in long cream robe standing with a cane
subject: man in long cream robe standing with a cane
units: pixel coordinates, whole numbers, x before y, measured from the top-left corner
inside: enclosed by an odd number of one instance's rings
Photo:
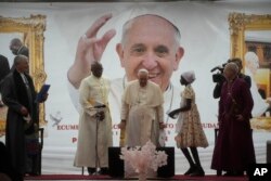
[[[109,81],[102,77],[103,66],[99,62],[91,64],[91,72],[79,88],[81,111],[75,166],[88,167],[89,174],[98,168],[101,174],[107,174],[108,147],[113,146]]]

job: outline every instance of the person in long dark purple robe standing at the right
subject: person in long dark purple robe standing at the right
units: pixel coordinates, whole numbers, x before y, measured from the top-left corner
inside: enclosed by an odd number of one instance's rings
[[[219,132],[211,168],[227,171],[224,176],[243,176],[255,160],[249,119],[254,106],[251,93],[238,67],[228,63],[219,102]]]

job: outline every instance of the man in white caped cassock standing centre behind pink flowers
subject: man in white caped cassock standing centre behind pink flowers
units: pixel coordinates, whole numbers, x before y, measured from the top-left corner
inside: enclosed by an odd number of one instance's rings
[[[129,82],[122,94],[121,121],[125,145],[143,146],[151,140],[156,146],[164,128],[164,98],[158,85],[149,81],[149,72],[140,69],[138,80]]]

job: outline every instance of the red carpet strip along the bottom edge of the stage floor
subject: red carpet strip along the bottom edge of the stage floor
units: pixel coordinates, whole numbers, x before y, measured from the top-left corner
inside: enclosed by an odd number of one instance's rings
[[[138,180],[136,178],[112,178],[109,176],[81,176],[81,174],[42,174],[38,177],[26,177],[25,180]],[[179,181],[248,181],[247,177],[189,177],[177,174],[172,178],[150,178],[147,180],[179,180]]]

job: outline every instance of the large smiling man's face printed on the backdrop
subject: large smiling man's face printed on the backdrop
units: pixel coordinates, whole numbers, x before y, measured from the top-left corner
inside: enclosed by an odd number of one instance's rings
[[[117,52],[128,81],[137,79],[139,69],[149,70],[149,79],[165,91],[172,72],[183,55],[175,27],[155,15],[136,17],[127,25]]]

